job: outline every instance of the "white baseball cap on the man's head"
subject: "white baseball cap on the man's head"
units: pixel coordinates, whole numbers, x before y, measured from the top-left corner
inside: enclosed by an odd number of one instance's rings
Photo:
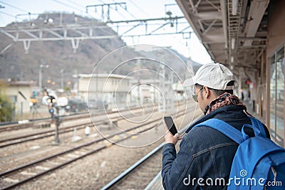
[[[217,90],[232,90],[234,85],[227,86],[227,83],[234,80],[231,70],[220,63],[208,63],[202,65],[194,77],[183,82],[185,87],[195,84],[207,86]]]

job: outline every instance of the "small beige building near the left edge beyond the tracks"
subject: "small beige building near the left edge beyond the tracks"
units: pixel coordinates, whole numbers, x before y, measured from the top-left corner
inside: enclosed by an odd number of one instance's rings
[[[5,89],[6,95],[11,98],[15,106],[15,113],[21,114],[21,112],[30,111],[30,95],[31,85],[28,81],[11,81],[7,83]]]

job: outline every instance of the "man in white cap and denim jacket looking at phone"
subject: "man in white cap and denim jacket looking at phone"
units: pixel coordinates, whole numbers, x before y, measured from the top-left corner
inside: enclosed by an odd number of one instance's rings
[[[237,130],[244,124],[251,125],[247,107],[233,95],[234,76],[224,65],[202,65],[193,78],[185,80],[185,86],[195,85],[192,95],[204,111],[204,117],[189,127],[176,153],[175,144],[180,139],[165,134],[162,151],[162,184],[165,189],[227,189],[234,154],[239,144],[210,127],[195,125],[216,118],[229,123]],[[269,132],[266,129],[267,137]],[[249,137],[254,132],[247,128]]]

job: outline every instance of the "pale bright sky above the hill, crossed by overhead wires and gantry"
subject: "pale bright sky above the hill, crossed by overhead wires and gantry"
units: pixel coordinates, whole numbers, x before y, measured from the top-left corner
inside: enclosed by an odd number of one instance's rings
[[[153,19],[168,17],[167,11],[171,11],[172,17],[183,16],[175,0],[3,0],[0,1],[0,27],[4,27],[13,21],[28,21],[29,19],[36,19],[38,14],[43,12],[64,11],[66,13],[74,13],[81,16],[87,16],[93,19],[107,20],[108,6],[95,6],[88,8],[86,13],[86,6],[114,4],[121,3],[118,6],[110,5],[110,20],[112,21],[126,21],[135,19]],[[125,3],[125,4],[123,4]],[[102,16],[103,12],[103,16]],[[30,15],[28,14],[30,13]],[[177,31],[192,32],[192,28],[186,19],[179,19],[177,24]],[[173,33],[176,25],[171,27],[167,24],[163,27],[165,21],[161,21],[160,25],[153,25],[155,22],[150,22],[147,26],[147,33],[155,31],[154,33]],[[156,22],[158,23],[158,22]],[[137,23],[134,23],[137,24]],[[117,26],[109,25],[115,31]],[[125,33],[132,28],[129,23],[122,23],[118,28],[118,34]],[[138,26],[137,28],[125,33],[125,36],[138,35],[138,33],[145,33],[145,26]],[[189,37],[184,36],[184,37]],[[181,33],[175,35],[159,35],[159,36],[134,36],[123,37],[123,41],[127,45],[150,44],[162,47],[171,47],[184,55],[190,57],[198,63],[211,63],[211,58],[205,50],[202,43],[199,41],[195,33],[191,33],[190,38],[184,38]]]

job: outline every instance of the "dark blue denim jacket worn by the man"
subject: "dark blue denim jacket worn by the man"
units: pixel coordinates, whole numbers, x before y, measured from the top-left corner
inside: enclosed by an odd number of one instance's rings
[[[227,189],[227,181],[234,154],[239,144],[210,127],[192,127],[216,118],[229,123],[237,130],[251,121],[238,105],[220,107],[190,126],[176,153],[174,144],[162,149],[162,184],[165,189]],[[264,127],[269,137],[269,132]],[[253,132],[246,131],[249,136]]]

